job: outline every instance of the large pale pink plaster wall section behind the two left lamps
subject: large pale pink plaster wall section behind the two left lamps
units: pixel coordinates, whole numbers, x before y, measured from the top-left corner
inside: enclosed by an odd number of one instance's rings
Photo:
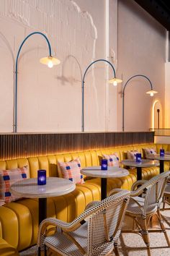
[[[48,55],[48,45],[40,35],[25,41],[18,61],[17,132],[81,131],[82,75],[91,61],[106,57],[105,4],[98,0],[1,0],[0,107],[4,111],[0,132],[12,132],[15,59],[22,40],[34,31],[47,35],[52,54],[61,64],[53,69],[40,64],[39,59]],[[97,64],[86,75],[86,131],[106,129],[107,69],[106,64]],[[115,124],[111,122],[109,128]]]

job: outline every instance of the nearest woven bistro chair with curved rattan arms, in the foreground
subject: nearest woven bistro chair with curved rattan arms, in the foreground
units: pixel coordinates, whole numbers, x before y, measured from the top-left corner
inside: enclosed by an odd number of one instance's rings
[[[117,240],[129,198],[130,191],[123,190],[93,205],[90,203],[71,223],[46,218],[40,223],[38,254],[47,247],[54,255],[110,255],[114,248],[118,255]]]

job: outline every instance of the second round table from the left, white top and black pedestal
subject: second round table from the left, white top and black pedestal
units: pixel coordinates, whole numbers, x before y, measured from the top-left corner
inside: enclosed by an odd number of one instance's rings
[[[101,170],[101,166],[91,166],[81,169],[81,174],[95,178],[101,178],[101,200],[107,197],[107,178],[120,178],[128,176],[129,171],[125,168],[108,166],[107,171]]]

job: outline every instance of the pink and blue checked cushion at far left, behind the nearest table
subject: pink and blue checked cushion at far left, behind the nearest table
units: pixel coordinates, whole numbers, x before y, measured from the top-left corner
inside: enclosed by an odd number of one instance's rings
[[[0,205],[4,205],[6,202],[12,202],[21,198],[12,195],[9,188],[14,182],[18,182],[21,179],[27,179],[27,176],[27,166],[12,170],[0,170]]]

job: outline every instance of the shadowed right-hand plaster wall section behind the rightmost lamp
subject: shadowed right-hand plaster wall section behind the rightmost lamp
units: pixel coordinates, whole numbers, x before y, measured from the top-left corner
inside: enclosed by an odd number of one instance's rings
[[[146,131],[152,127],[154,101],[160,101],[164,113],[166,30],[133,0],[118,1],[118,60],[124,85],[133,75],[145,74],[158,91],[153,98],[146,95],[150,85],[142,77],[125,88],[125,131]],[[117,129],[121,130],[122,100],[117,98]]]

